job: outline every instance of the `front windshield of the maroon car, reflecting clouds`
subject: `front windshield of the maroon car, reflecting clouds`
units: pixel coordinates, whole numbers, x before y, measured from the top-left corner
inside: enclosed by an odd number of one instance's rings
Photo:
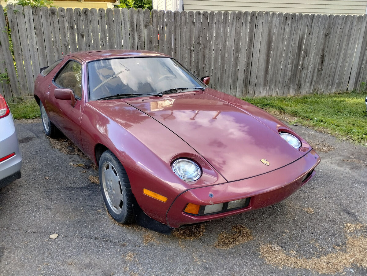
[[[92,101],[110,96],[155,94],[172,88],[205,88],[172,58],[116,58],[88,63],[89,97]],[[182,90],[173,90],[172,93]],[[131,95],[135,94],[135,95]]]

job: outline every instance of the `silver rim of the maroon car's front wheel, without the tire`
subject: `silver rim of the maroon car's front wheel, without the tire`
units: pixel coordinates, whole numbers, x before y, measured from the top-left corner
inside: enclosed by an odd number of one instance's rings
[[[123,192],[119,175],[110,162],[103,163],[102,185],[108,205],[114,213],[120,214],[123,207]]]

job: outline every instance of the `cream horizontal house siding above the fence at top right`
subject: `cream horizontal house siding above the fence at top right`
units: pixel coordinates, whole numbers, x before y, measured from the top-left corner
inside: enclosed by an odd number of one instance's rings
[[[366,13],[366,5],[366,0],[183,0],[185,11],[269,11],[362,15]]]

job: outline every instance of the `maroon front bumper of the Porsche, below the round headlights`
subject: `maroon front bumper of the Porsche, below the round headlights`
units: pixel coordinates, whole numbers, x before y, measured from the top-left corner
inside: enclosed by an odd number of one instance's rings
[[[314,175],[320,157],[311,150],[301,159],[277,170],[247,179],[193,188],[179,195],[166,214],[167,225],[178,228],[212,219],[228,217],[264,208],[286,199]],[[209,195],[211,194],[212,197]],[[212,215],[190,215],[183,212],[188,203],[200,206],[250,198],[247,207]]]

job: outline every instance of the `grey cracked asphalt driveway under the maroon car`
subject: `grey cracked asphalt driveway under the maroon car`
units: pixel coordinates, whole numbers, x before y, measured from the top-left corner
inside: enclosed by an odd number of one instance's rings
[[[39,120],[16,127],[22,178],[0,190],[0,275],[367,275],[366,147],[292,126],[321,156],[312,181],[166,236],[114,222],[98,171],[67,139]]]

